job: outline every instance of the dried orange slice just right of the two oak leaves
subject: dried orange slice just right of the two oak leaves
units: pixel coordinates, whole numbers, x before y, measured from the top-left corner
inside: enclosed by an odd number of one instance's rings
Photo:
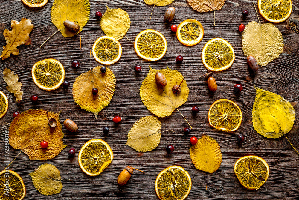
[[[64,79],[64,68],[55,59],[49,58],[35,63],[31,70],[34,83],[43,90],[59,88]]]

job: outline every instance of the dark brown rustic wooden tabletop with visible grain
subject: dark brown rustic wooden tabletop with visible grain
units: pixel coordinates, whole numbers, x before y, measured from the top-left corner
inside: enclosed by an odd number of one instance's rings
[[[60,120],[72,119],[77,123],[79,131],[69,133],[64,127],[64,144],[68,145],[57,157],[47,160],[29,160],[24,153],[13,162],[11,170],[16,171],[23,178],[26,186],[25,199],[158,199],[155,194],[155,179],[158,173],[171,165],[182,166],[189,172],[192,180],[192,189],[187,199],[298,199],[299,198],[299,171],[298,154],[292,149],[285,137],[268,139],[259,135],[252,126],[251,112],[255,99],[254,85],[275,92],[285,99],[293,102],[296,110],[294,128],[287,134],[292,144],[299,149],[299,1],[293,1],[293,11],[289,19],[275,26],[282,32],[284,39],[283,54],[267,65],[260,67],[255,75],[250,74],[246,64],[246,57],[242,51],[242,35],[238,31],[241,23],[247,25],[252,20],[258,21],[251,0],[227,0],[222,10],[216,11],[216,26],[213,26],[213,13],[198,13],[188,6],[185,0],[175,0],[164,7],[155,7],[152,19],[149,20],[152,6],[144,4],[143,0],[90,0],[90,19],[81,32],[82,49],[79,49],[79,36],[72,38],[62,37],[60,33],[54,35],[42,48],[39,46],[57,29],[51,22],[50,0],[42,8],[30,8],[20,0],[0,0],[0,46],[5,45],[4,29],[10,29],[11,20],[20,20],[22,17],[32,20],[34,25],[30,33],[32,43],[29,46],[20,46],[19,55],[11,55],[0,62],[0,71],[10,68],[19,75],[22,82],[23,100],[18,105],[13,94],[6,90],[6,83],[0,78],[0,90],[9,100],[9,109],[0,119],[0,165],[4,166],[4,131],[8,130],[13,120],[13,112],[23,112],[28,109],[47,109],[54,112],[62,110]],[[94,41],[103,36],[100,20],[95,18],[95,12],[110,8],[122,8],[129,13],[131,27],[126,36],[134,41],[139,32],[144,29],[160,31],[167,40],[167,52],[159,61],[148,62],[136,55],[134,45],[123,38],[120,40],[123,53],[120,60],[109,66],[115,74],[117,84],[115,94],[98,119],[91,112],[80,110],[72,97],[72,85],[75,78],[89,70],[89,50]],[[205,34],[202,41],[196,46],[184,46],[170,31],[170,25],[164,23],[164,13],[168,7],[176,8],[176,15],[171,24],[179,25],[185,19],[197,19],[202,23]],[[242,17],[242,10],[248,10],[249,15]],[[266,20],[260,16],[262,23]],[[234,47],[236,59],[234,64],[225,71],[214,75],[218,89],[215,93],[209,92],[205,79],[198,76],[206,73],[201,61],[202,48],[206,42],[214,37],[222,37]],[[176,64],[175,58],[182,55],[184,61]],[[65,80],[71,82],[68,89],[62,87],[54,91],[44,91],[38,88],[32,80],[31,68],[34,63],[46,58],[55,58],[65,68]],[[77,59],[80,68],[74,69],[71,61]],[[140,74],[135,73],[134,66],[142,66]],[[91,58],[91,66],[99,65]],[[135,121],[143,116],[152,115],[141,102],[139,87],[149,72],[149,65],[154,69],[166,68],[178,70],[190,89],[187,102],[179,110],[192,125],[191,133],[186,136],[183,128],[187,123],[179,112],[174,111],[167,118],[162,118],[161,130],[174,130],[175,133],[161,134],[160,144],[156,149],[146,153],[138,153],[129,146],[125,146],[127,133]],[[2,73],[1,73],[2,74]],[[235,94],[233,86],[236,83],[243,85],[243,91]],[[33,105],[31,95],[38,95],[39,102]],[[234,133],[216,130],[208,123],[208,110],[210,105],[218,99],[233,100],[242,110],[242,124]],[[191,107],[198,106],[199,113],[193,115]],[[116,115],[122,117],[119,124],[114,124],[112,118]],[[108,135],[104,135],[102,128],[110,128]],[[221,147],[222,163],[213,174],[208,174],[208,190],[205,189],[206,174],[197,170],[189,156],[189,138],[200,137],[203,133],[217,140]],[[237,135],[245,137],[242,145],[238,145]],[[72,147],[78,153],[82,145],[93,138],[104,139],[112,148],[114,159],[106,170],[97,177],[86,175],[79,167],[77,156],[68,157],[68,150]],[[172,144],[175,148],[173,154],[167,154],[165,148]],[[19,150],[10,146],[9,160],[12,160]],[[76,153],[76,155],[77,155]],[[257,155],[266,160],[270,167],[270,175],[266,183],[257,191],[247,190],[239,183],[234,174],[233,167],[236,160],[245,155]],[[74,182],[63,181],[61,193],[43,196],[34,187],[29,173],[39,165],[50,163],[55,165],[62,178],[70,178]],[[146,171],[143,175],[135,172],[129,182],[119,187],[117,177],[124,167],[132,165]]]

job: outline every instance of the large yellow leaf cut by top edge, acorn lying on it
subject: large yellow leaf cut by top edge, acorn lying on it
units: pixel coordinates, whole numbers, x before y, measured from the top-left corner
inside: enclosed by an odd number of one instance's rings
[[[51,8],[51,20],[63,37],[73,37],[78,32],[69,31],[63,22],[65,20],[76,21],[80,26],[80,31],[82,31],[89,20],[89,10],[89,0],[54,0]]]

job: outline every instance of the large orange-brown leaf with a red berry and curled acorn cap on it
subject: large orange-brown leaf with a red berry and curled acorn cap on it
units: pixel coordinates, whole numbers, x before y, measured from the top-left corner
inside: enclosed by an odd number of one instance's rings
[[[48,160],[57,156],[63,148],[63,133],[59,122],[59,113],[46,110],[27,110],[14,118],[9,127],[9,144],[15,149],[21,149],[29,159]],[[48,125],[48,118],[55,118],[56,127]],[[48,148],[42,148],[40,143],[47,141]]]

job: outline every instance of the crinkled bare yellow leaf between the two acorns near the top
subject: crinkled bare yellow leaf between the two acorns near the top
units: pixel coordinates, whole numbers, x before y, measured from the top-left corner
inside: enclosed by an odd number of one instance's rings
[[[101,18],[101,28],[107,36],[114,37],[117,40],[120,40],[125,36],[127,31],[130,28],[130,17],[129,14],[118,8],[110,9],[107,6],[106,12]]]

